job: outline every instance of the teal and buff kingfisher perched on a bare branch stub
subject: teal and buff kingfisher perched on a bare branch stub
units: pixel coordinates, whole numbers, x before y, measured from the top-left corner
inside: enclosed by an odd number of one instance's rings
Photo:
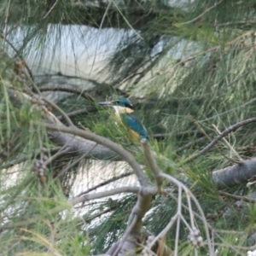
[[[121,97],[111,102],[99,102],[99,104],[114,109],[116,118],[119,123],[126,127],[131,136],[131,141],[137,143],[142,138],[148,141],[148,131],[142,122],[137,119],[137,116],[134,114],[134,108],[127,98]]]

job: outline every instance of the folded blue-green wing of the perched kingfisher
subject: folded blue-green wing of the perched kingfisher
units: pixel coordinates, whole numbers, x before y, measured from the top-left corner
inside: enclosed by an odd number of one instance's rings
[[[148,139],[148,131],[135,114],[121,113],[120,118],[126,126],[136,131],[141,137]]]

